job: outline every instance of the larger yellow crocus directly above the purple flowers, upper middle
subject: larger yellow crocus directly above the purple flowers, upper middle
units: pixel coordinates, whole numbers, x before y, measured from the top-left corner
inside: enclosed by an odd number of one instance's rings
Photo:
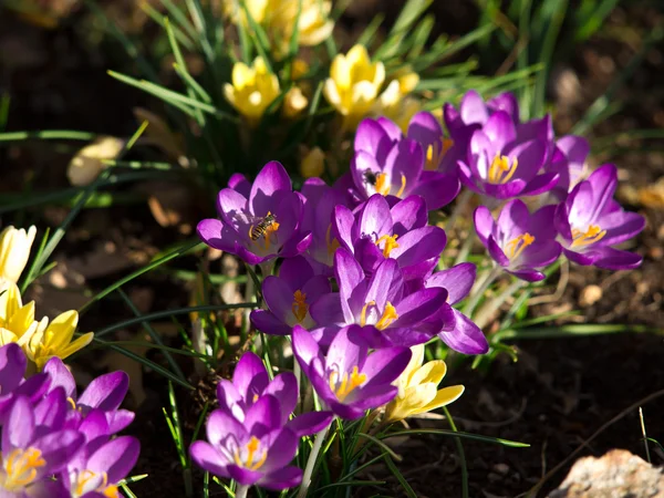
[[[385,66],[372,63],[363,45],[334,58],[323,94],[344,117],[344,129],[356,126],[369,114],[384,81]]]

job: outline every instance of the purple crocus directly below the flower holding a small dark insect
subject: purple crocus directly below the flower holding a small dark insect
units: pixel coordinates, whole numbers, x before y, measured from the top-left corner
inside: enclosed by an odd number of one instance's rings
[[[426,205],[418,196],[409,196],[392,208],[378,194],[355,212],[336,206],[333,227],[342,247],[354,253],[367,273],[392,258],[406,280],[428,273],[447,241],[442,228],[427,225]]]

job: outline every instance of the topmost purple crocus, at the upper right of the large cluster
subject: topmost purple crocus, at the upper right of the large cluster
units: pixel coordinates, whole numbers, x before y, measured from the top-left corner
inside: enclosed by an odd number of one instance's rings
[[[518,133],[507,112],[494,113],[473,133],[468,157],[458,163],[464,185],[497,199],[532,196],[553,188],[559,173],[542,172],[552,145],[538,136],[548,134],[546,123],[528,126],[531,127]]]

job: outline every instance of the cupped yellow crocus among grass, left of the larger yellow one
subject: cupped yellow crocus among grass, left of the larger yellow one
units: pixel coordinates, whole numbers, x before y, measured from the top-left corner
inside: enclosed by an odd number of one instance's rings
[[[279,96],[279,79],[271,73],[262,58],[256,58],[251,68],[243,62],[232,66],[232,84],[226,83],[224,94],[250,125],[256,125],[266,110]]]

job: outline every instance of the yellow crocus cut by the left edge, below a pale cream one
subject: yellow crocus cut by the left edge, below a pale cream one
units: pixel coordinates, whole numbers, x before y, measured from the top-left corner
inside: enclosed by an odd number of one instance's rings
[[[0,292],[0,345],[15,342],[23,346],[38,329],[34,301],[23,305],[21,292],[13,282],[6,281]]]

